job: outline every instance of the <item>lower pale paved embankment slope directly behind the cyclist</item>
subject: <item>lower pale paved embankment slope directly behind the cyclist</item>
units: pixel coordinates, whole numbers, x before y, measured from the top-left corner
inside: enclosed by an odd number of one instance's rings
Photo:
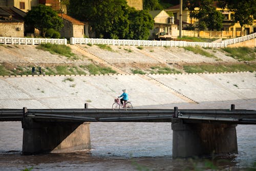
[[[256,109],[255,72],[0,77],[0,87],[2,109],[109,109],[122,89],[134,108]]]

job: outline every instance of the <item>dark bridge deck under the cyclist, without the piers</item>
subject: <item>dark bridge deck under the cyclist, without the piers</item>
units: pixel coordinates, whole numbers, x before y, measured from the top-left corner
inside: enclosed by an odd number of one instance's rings
[[[185,123],[256,124],[256,111],[254,110],[0,109],[0,121],[21,121],[23,117],[45,122],[175,122],[179,118]]]

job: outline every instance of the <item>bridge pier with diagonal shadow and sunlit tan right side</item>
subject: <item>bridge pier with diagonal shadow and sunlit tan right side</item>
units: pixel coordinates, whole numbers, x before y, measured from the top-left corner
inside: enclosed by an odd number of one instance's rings
[[[90,122],[35,122],[24,117],[23,154],[65,153],[91,149]]]

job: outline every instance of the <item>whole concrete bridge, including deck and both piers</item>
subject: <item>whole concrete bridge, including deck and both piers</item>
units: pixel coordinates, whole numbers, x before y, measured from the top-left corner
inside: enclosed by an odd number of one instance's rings
[[[87,107],[88,105],[85,105]],[[237,124],[256,124],[256,111],[231,109],[2,109],[0,121],[22,121],[23,154],[90,149],[90,122],[172,122],[173,158],[238,153]]]

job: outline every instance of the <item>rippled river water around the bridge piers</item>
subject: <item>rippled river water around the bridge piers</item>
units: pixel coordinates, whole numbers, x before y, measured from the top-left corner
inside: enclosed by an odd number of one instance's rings
[[[185,170],[204,168],[206,159],[172,159],[171,123],[91,123],[90,151],[22,156],[22,125],[0,122],[0,169]],[[256,125],[238,125],[238,155],[218,156],[219,169],[240,170],[256,161]],[[222,162],[219,162],[222,161]]]

